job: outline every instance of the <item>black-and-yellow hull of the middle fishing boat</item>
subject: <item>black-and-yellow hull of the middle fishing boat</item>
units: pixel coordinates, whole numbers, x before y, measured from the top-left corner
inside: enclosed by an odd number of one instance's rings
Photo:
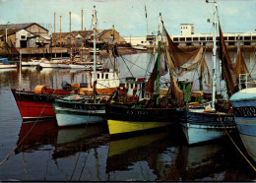
[[[132,108],[106,105],[107,125],[110,135],[121,135],[173,125],[176,110],[166,108]]]

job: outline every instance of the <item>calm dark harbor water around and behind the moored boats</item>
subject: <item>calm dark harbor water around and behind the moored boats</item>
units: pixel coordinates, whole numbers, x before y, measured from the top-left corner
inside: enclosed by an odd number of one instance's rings
[[[235,55],[230,54],[232,60]],[[206,54],[210,72],[211,56],[212,53]],[[147,78],[151,57],[147,53],[119,57],[116,66],[121,71],[120,78]],[[244,57],[249,70],[253,69],[255,55],[245,53]],[[117,139],[110,138],[106,123],[58,128],[55,119],[23,122],[11,92],[19,89],[20,77],[22,89],[29,91],[36,85],[61,89],[64,81],[90,80],[83,70],[0,70],[0,181],[256,180],[254,170],[227,137],[188,146],[179,126]],[[196,81],[196,77],[193,74],[183,79]],[[161,82],[167,80],[165,77]],[[238,133],[231,138],[244,151]]]

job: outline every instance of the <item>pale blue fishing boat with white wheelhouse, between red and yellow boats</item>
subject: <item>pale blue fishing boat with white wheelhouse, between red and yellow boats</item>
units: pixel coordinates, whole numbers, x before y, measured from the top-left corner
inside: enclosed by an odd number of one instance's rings
[[[93,14],[94,39],[96,40],[96,10]],[[119,71],[103,69],[96,71],[96,46],[94,54],[94,77],[91,89],[85,89],[83,95],[70,95],[56,99],[53,103],[57,124],[60,127],[100,123],[105,121],[106,96],[117,90]],[[80,92],[81,93],[81,92]],[[82,93],[81,93],[82,94]]]

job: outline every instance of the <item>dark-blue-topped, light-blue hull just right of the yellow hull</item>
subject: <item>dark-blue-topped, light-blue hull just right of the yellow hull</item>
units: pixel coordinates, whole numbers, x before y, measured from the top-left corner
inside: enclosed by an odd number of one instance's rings
[[[220,139],[226,131],[235,131],[233,114],[191,112],[188,109],[184,111],[181,126],[189,145]]]

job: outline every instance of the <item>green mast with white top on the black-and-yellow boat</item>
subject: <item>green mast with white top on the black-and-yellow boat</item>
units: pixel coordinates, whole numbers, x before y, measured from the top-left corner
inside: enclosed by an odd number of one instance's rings
[[[161,28],[161,14],[160,14],[160,25],[159,25],[159,34],[158,34],[158,42],[159,42],[159,49],[158,49],[158,69],[157,69],[157,99],[156,104],[160,104],[160,28]]]

